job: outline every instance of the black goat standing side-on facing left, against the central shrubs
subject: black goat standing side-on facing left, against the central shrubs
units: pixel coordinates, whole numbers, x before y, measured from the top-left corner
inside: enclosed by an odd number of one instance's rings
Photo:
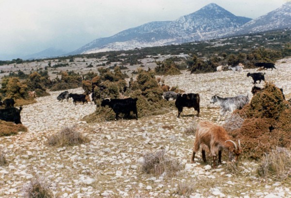
[[[136,109],[136,101],[137,98],[132,99],[103,99],[101,102],[101,106],[105,107],[108,105],[113,109],[115,113],[115,119],[118,120],[119,114],[125,114],[127,117],[129,116],[130,112],[133,112],[137,116],[137,109]]]

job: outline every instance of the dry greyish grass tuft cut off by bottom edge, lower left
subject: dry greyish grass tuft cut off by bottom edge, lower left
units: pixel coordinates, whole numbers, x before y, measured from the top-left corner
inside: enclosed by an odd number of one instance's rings
[[[25,198],[54,198],[49,189],[50,182],[44,177],[35,176],[31,182],[22,189]]]

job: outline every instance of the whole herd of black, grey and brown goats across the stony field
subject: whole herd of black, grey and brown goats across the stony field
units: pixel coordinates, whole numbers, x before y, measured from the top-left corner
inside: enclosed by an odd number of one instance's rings
[[[263,66],[264,69],[275,68],[273,63],[256,63],[256,66]],[[224,66],[218,66],[217,71],[222,71]],[[243,65],[240,64],[235,67],[230,67],[233,71],[242,71]],[[261,81],[265,81],[265,73],[247,73],[247,77],[251,76],[254,80],[252,93],[258,93],[261,88],[256,87],[257,81],[259,83]],[[283,94],[283,90],[280,89]],[[68,91],[62,92],[57,99],[59,101],[63,101],[66,99],[67,101],[69,98],[73,99],[73,103],[76,105],[77,102],[84,102],[88,101],[85,99],[86,95],[84,94],[73,94],[69,93]],[[90,93],[89,98],[94,101],[94,94]],[[173,91],[167,91],[163,93],[163,99],[166,100],[176,100],[175,105],[178,108],[178,117],[180,116],[181,112],[183,111],[183,107],[194,108],[197,111],[197,116],[200,113],[200,97],[199,94],[194,93],[176,93]],[[125,114],[125,116],[129,116],[130,112],[135,114],[136,119],[138,119],[137,107],[136,107],[137,98],[127,98],[127,99],[103,99],[101,101],[101,106],[109,106],[113,112],[115,113],[115,119],[118,119],[119,114]],[[210,103],[217,102],[220,106],[220,115],[225,115],[226,112],[233,112],[236,109],[242,109],[244,105],[249,103],[248,96],[236,96],[236,97],[229,97],[229,98],[222,98],[219,96],[212,96],[210,99]],[[4,109],[0,109],[0,120],[14,122],[16,124],[21,124],[20,121],[20,112],[22,107],[19,109],[14,107],[15,101],[14,99],[5,99],[4,101],[0,102],[0,105],[5,105]],[[193,155],[191,162],[194,163],[195,153],[199,150],[201,146],[202,149],[202,159],[206,162],[206,152],[210,152],[210,155],[213,158],[213,167],[216,167],[216,158],[218,155],[218,163],[221,163],[221,154],[223,150],[227,150],[229,152],[229,160],[232,162],[238,162],[239,156],[242,152],[240,140],[238,141],[238,145],[231,140],[230,136],[227,134],[226,130],[219,125],[213,124],[210,121],[200,121],[197,125],[197,130],[195,134],[195,141],[194,141],[194,148],[193,148]]]

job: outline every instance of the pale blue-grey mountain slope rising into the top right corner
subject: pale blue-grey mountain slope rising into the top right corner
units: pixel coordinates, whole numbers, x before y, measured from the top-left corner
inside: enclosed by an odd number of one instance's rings
[[[246,34],[246,33],[258,33],[269,30],[277,30],[291,27],[291,2],[283,4],[280,8],[260,16],[256,19],[249,21],[242,25],[233,33],[234,34]]]

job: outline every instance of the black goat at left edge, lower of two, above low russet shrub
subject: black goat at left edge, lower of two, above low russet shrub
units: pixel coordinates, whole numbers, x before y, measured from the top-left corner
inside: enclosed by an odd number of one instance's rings
[[[4,120],[6,122],[14,122],[15,124],[22,124],[20,119],[20,112],[22,107],[19,109],[15,107],[8,107],[6,109],[0,109],[0,120]]]

